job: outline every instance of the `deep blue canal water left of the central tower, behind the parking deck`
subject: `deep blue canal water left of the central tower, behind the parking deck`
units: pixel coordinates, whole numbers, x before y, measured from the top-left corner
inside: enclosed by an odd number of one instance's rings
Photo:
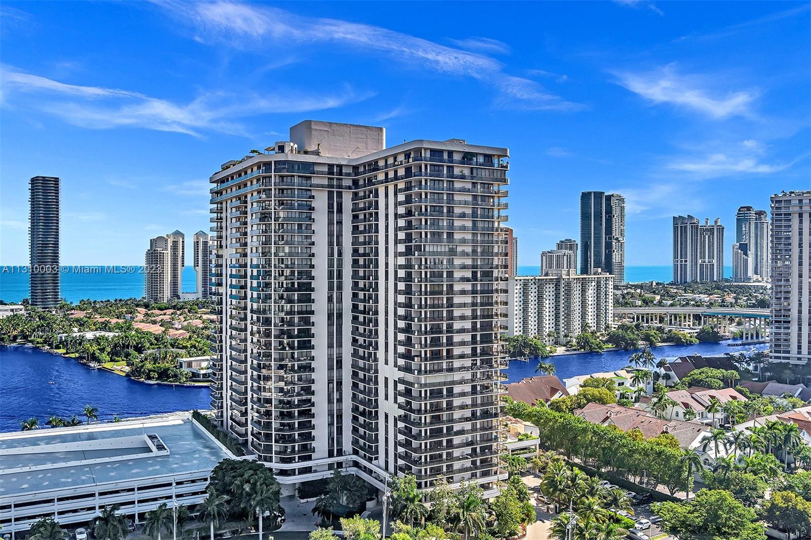
[[[84,419],[84,405],[98,407],[101,421],[210,408],[208,387],[140,383],[34,347],[0,345],[0,431],[18,431],[32,417],[41,426],[54,414]]]

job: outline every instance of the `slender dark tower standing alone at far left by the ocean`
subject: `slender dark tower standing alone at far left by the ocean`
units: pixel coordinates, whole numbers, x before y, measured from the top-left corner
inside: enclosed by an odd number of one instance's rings
[[[59,178],[35,176],[31,178],[29,191],[29,300],[32,306],[55,307],[60,302]]]

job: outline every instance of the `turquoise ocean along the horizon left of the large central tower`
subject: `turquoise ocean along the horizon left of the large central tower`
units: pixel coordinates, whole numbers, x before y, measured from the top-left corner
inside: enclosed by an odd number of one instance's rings
[[[0,266],[0,300],[19,302],[28,298],[28,273],[24,267]],[[142,266],[88,266],[64,267],[60,273],[62,298],[76,303],[79,300],[112,300],[114,298],[141,298],[144,296],[144,267]],[[195,268],[183,268],[182,290],[193,293],[197,284]]]

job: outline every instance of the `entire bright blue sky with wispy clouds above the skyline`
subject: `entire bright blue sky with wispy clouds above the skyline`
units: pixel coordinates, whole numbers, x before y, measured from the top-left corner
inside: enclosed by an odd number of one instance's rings
[[[208,176],[313,118],[511,150],[520,264],[628,199],[629,265],[671,216],[811,187],[797,2],[3,2],[0,264],[27,264],[28,178],[62,178],[62,262],[138,264],[208,229]]]

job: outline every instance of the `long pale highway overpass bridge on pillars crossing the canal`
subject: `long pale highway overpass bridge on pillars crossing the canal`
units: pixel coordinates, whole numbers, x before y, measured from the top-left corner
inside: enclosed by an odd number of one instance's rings
[[[769,335],[770,313],[751,307],[615,307],[614,323],[642,323],[691,330],[710,326],[728,332],[734,321],[741,321],[744,341],[757,341]]]

